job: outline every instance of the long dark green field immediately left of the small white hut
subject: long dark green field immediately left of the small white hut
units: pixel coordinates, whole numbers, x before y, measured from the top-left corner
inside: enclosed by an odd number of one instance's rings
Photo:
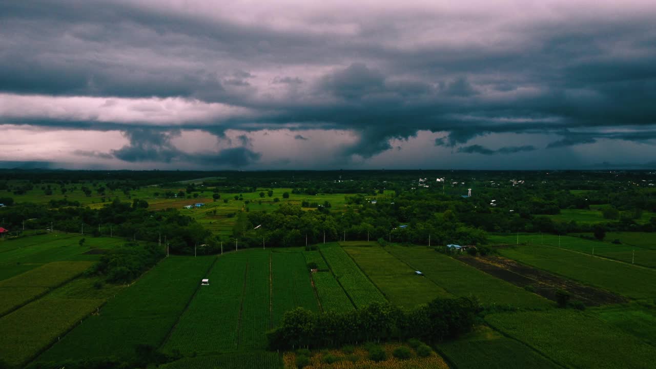
[[[39,357],[133,357],[140,343],[159,347],[215,257],[168,257],[125,288]]]

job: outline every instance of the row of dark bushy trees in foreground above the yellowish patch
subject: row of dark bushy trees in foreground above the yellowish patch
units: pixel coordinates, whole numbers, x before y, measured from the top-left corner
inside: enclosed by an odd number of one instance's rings
[[[270,349],[340,347],[366,341],[418,338],[442,341],[470,332],[480,307],[466,297],[434,299],[406,311],[389,303],[372,303],[345,313],[314,313],[297,308],[282,325],[266,334]]]

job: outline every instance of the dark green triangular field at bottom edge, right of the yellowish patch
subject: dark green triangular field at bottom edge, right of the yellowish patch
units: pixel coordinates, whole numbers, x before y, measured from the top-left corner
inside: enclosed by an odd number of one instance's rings
[[[440,353],[462,369],[556,369],[562,366],[540,355],[515,339],[487,326],[455,341],[437,345]]]

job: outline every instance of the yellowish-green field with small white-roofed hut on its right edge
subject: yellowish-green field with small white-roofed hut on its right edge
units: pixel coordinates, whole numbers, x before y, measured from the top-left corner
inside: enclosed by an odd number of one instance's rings
[[[437,297],[451,297],[430,279],[415,271],[380,246],[344,247],[359,267],[395,305],[414,307]]]

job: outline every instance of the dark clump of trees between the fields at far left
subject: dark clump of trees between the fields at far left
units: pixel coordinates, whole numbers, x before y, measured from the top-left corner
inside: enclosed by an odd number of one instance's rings
[[[109,250],[87,275],[102,276],[109,283],[128,283],[157,263],[165,252],[156,244],[132,242]]]

